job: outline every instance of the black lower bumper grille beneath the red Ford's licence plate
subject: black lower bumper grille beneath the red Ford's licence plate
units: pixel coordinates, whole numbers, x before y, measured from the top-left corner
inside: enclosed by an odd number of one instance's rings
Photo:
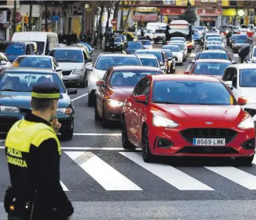
[[[205,153],[205,154],[237,154],[238,151],[236,151],[234,148],[231,147],[208,147],[208,146],[200,146],[200,147],[194,147],[194,146],[186,146],[177,153]]]

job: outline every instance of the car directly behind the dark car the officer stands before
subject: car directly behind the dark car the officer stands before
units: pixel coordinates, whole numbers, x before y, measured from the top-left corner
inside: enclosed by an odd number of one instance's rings
[[[52,69],[58,73],[63,80],[62,69],[58,66],[57,61],[52,56],[44,55],[22,55],[18,56],[12,63],[12,67],[29,67],[40,69]]]

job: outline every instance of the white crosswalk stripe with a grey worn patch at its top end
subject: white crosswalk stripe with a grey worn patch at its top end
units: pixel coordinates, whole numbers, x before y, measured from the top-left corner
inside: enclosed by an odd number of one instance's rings
[[[107,191],[142,190],[92,152],[65,151],[65,153]]]

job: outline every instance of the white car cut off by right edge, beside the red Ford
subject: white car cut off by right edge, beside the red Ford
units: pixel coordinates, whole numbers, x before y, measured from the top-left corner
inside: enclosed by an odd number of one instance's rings
[[[235,98],[244,100],[243,109],[250,113],[256,124],[256,64],[240,63],[225,69],[222,80]]]

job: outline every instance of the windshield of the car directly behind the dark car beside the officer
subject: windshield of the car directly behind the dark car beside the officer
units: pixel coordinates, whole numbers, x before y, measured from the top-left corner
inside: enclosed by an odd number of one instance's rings
[[[53,69],[51,58],[23,56],[16,59],[12,67]]]

